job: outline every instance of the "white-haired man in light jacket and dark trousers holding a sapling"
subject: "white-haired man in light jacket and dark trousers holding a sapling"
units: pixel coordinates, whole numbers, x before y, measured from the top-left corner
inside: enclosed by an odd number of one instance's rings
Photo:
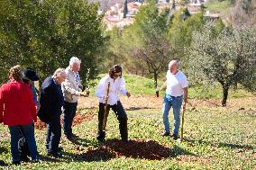
[[[80,64],[80,59],[76,57],[70,58],[69,67],[65,69],[67,78],[65,82],[63,82],[61,85],[62,92],[64,95],[63,129],[67,139],[72,139],[72,137],[75,136],[72,132],[72,123],[77,112],[78,97],[87,97],[87,94],[83,94],[79,91],[79,89],[83,88],[83,85],[81,85],[80,77],[78,74]]]

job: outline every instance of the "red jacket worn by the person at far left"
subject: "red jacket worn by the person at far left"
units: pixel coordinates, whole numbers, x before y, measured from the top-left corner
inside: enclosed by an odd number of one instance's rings
[[[35,103],[29,85],[11,80],[0,87],[0,123],[28,125],[37,121]]]

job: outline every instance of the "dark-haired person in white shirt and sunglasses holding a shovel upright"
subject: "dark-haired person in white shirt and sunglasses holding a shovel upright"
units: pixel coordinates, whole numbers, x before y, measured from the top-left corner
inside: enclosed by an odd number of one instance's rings
[[[108,82],[110,83],[109,94],[107,94]],[[105,123],[110,108],[114,111],[119,121],[119,130],[122,140],[128,142],[127,114],[118,97],[119,93],[127,97],[131,96],[125,89],[122,67],[114,65],[114,67],[110,68],[109,74],[100,80],[96,89],[96,97],[99,98],[98,136],[96,139],[101,142],[105,141]],[[105,101],[107,102],[106,112]]]

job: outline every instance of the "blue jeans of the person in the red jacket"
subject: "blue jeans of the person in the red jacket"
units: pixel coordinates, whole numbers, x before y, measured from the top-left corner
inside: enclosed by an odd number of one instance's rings
[[[21,160],[19,156],[19,149],[18,149],[20,130],[23,131],[23,135],[28,143],[32,160],[37,159],[37,147],[36,147],[36,142],[34,138],[33,123],[29,125],[9,126],[9,130],[11,134],[11,152],[12,152],[13,162]]]

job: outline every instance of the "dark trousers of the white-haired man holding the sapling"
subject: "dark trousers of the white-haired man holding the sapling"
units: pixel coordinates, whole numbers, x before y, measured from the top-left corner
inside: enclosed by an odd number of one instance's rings
[[[72,135],[72,123],[74,117],[77,112],[78,103],[68,103],[64,102],[63,109],[64,109],[64,119],[63,119],[63,129],[64,134],[67,137]]]

